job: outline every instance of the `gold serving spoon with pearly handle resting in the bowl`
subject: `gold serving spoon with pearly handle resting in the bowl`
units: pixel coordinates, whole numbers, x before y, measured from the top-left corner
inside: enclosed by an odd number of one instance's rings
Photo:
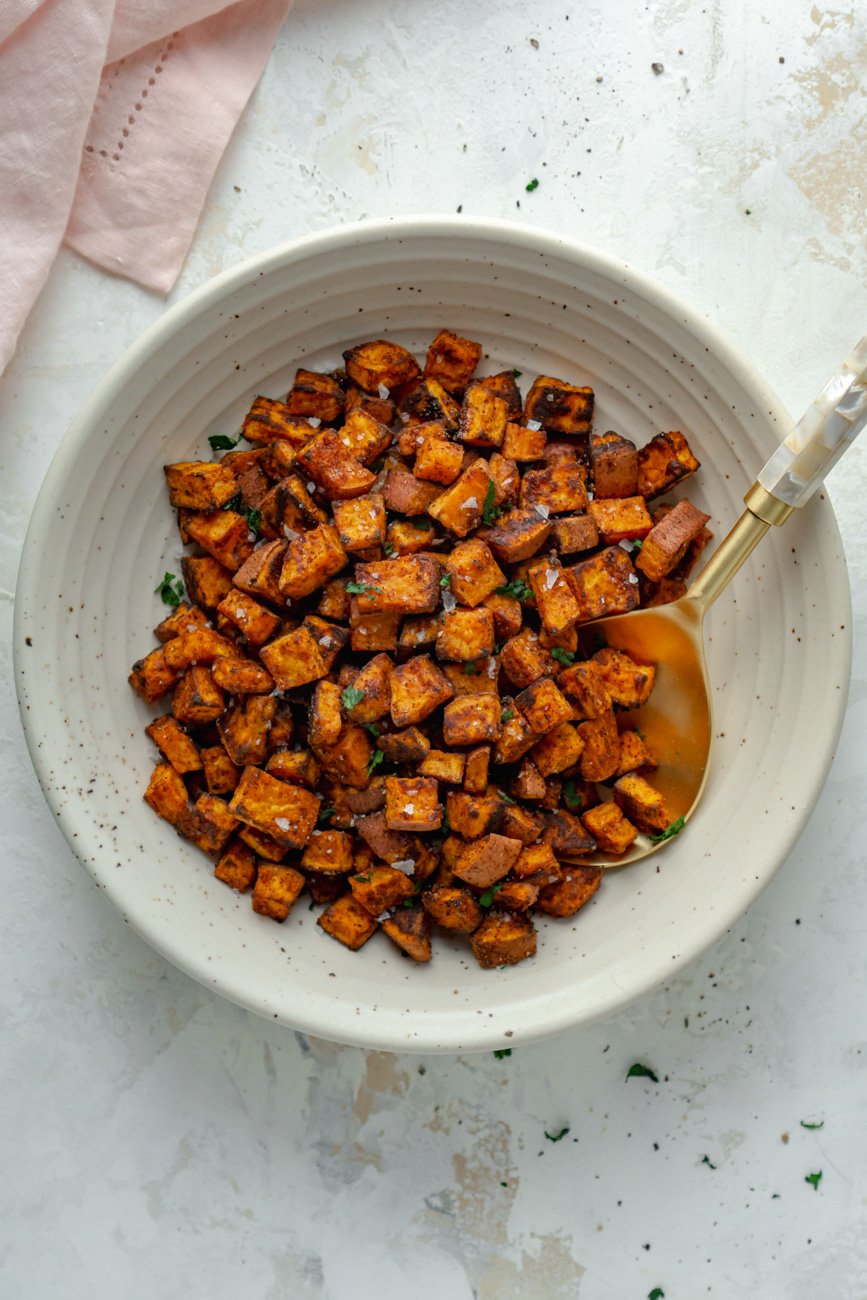
[[[746,510],[686,594],[671,604],[599,620],[607,644],[656,666],[646,705],[627,715],[641,728],[659,767],[650,780],[671,812],[666,838],[640,835],[619,858],[595,853],[585,862],[623,867],[662,848],[695,811],[711,751],[711,690],[702,624],[772,526],[803,506],[829,469],[867,425],[867,337],[846,358],[803,419],[773,452],[746,497]]]

